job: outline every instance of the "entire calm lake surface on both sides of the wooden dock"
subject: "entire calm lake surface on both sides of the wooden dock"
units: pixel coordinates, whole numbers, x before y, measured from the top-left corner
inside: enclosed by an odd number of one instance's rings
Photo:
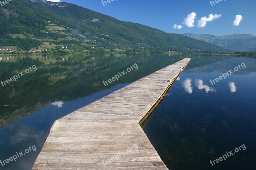
[[[254,169],[256,167],[255,58],[162,54],[75,54],[0,56],[0,160],[31,146],[26,155],[0,169],[31,169],[56,119],[169,64],[191,57],[143,130],[169,169]],[[137,63],[139,69],[108,86],[102,84]],[[226,70],[246,68],[212,85]],[[246,149],[212,166],[238,146]]]

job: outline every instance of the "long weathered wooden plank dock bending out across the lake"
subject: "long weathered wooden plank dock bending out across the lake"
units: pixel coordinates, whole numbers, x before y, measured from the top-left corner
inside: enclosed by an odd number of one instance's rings
[[[185,58],[60,118],[33,169],[167,169],[139,122],[189,61]]]

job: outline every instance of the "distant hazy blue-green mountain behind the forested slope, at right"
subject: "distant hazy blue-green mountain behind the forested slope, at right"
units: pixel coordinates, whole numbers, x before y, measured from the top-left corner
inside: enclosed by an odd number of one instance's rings
[[[182,34],[184,36],[222,46],[232,51],[256,51],[256,37],[250,34],[214,36],[210,34]]]

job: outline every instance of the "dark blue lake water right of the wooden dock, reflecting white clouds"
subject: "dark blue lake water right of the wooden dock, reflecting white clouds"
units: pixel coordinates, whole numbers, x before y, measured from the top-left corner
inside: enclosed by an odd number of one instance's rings
[[[256,59],[204,59],[192,57],[143,130],[168,169],[255,169]],[[243,62],[246,69],[211,84]],[[210,164],[242,144],[244,152]]]

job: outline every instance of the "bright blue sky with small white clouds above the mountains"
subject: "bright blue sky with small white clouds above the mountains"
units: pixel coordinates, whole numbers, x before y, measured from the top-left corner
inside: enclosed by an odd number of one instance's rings
[[[211,5],[210,0],[115,0],[105,6],[101,0],[61,1],[168,33],[213,35],[247,33],[256,36],[256,0],[222,0],[218,4],[214,3],[215,5],[213,3]],[[190,17],[187,18],[188,14]],[[209,16],[210,14],[212,15]],[[237,26],[233,25],[236,15],[240,15],[237,16],[236,25],[239,24]],[[241,17],[243,19],[239,22]],[[184,22],[184,18],[187,18],[187,22]],[[198,20],[201,20],[199,25]],[[182,28],[174,29],[175,24]]]

